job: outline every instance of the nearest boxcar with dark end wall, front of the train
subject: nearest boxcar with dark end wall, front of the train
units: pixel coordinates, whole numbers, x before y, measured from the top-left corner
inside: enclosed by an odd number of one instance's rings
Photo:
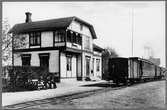
[[[142,61],[138,57],[111,58],[108,66],[110,79],[116,84],[134,83],[142,78]]]

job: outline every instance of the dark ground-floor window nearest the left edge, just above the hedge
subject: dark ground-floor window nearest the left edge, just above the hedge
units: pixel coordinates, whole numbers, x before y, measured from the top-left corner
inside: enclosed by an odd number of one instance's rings
[[[31,65],[31,54],[22,54],[22,66],[30,66]]]

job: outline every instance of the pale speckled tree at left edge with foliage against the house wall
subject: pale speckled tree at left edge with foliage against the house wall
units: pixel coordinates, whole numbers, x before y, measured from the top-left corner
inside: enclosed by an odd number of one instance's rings
[[[26,36],[12,35],[8,33],[10,24],[7,19],[2,21],[2,65],[10,65],[12,63],[12,44],[13,48],[20,48],[27,44]],[[12,43],[12,36],[14,40]]]

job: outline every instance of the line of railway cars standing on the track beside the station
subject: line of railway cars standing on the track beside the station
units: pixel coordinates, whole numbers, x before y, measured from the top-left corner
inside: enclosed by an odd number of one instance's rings
[[[161,67],[139,57],[111,58],[108,67],[109,79],[116,84],[129,84],[162,78]]]

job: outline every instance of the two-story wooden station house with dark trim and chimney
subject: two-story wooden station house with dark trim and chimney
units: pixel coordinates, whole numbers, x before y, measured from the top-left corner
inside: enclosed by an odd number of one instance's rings
[[[59,78],[101,78],[102,48],[93,44],[96,33],[91,24],[77,18],[66,17],[16,24],[9,33],[26,37],[26,45],[15,48],[15,66],[46,66]]]

